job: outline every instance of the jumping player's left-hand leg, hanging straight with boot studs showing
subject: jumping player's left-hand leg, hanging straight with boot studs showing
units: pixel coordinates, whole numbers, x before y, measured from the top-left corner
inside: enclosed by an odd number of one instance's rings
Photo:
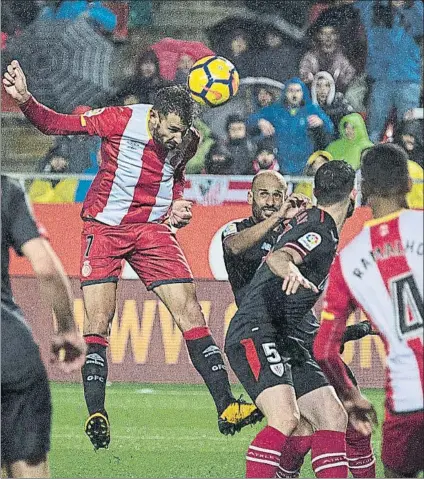
[[[84,397],[89,412],[85,432],[95,449],[107,448],[110,442],[109,418],[105,409],[108,375],[107,347],[109,325],[116,309],[116,282],[83,287],[84,339],[87,356],[82,367]]]

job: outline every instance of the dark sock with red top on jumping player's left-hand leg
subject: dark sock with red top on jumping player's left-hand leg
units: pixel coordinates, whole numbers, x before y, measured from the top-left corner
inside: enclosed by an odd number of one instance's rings
[[[85,402],[91,415],[105,411],[108,342],[102,336],[95,334],[84,336],[84,340],[87,344],[87,354],[81,372]]]

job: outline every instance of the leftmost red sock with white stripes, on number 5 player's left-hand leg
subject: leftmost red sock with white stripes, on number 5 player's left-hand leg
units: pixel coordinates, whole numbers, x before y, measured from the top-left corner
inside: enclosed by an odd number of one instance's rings
[[[277,429],[264,427],[247,450],[246,477],[275,477],[286,440]]]

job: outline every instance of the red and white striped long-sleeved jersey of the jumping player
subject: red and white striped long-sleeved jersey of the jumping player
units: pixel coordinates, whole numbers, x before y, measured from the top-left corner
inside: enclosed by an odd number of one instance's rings
[[[198,138],[185,137],[185,152],[183,148],[178,152],[164,149],[150,136],[151,105],[64,115],[31,96],[20,108],[43,133],[102,138],[102,163],[84,202],[82,218],[107,225],[161,222],[172,200],[182,197],[185,163],[194,155]]]

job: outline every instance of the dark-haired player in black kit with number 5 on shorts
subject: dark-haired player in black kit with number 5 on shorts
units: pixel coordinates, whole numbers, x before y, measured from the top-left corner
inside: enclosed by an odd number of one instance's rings
[[[299,402],[303,401],[302,415],[316,431],[312,437],[315,473],[318,477],[347,476],[346,413],[313,359],[302,360],[292,377],[292,366],[296,366],[290,356],[294,349],[304,349],[295,340],[297,328],[325,282],[338,231],[350,208],[353,183],[354,172],[345,162],[333,161],[318,170],[318,207],[289,222],[255,273],[230,323],[225,348],[231,367],[268,420],[249,447],[247,477],[275,476],[287,437],[299,421],[293,382],[301,392],[308,381],[314,381],[316,389]],[[292,287],[291,274],[304,288],[297,291],[297,285]],[[294,338],[296,348],[286,341],[288,336]],[[313,399],[315,407],[307,410]],[[325,410],[316,407],[324,403]],[[327,408],[331,416],[326,414]]]

